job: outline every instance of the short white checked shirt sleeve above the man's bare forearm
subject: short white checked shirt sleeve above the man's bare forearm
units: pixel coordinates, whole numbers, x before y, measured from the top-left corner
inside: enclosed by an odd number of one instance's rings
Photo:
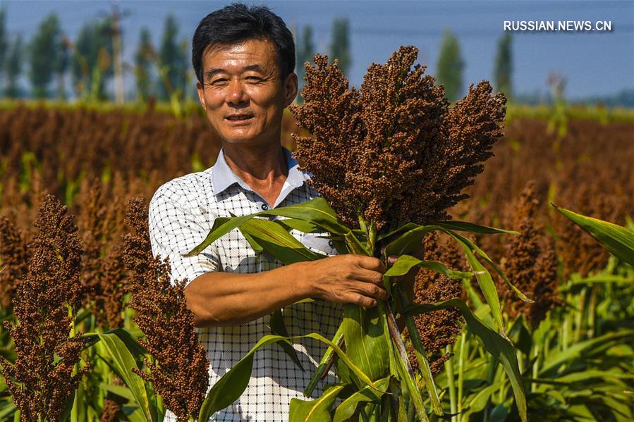
[[[220,268],[213,244],[200,254],[183,256],[205,240],[212,226],[207,211],[192,205],[183,203],[165,185],[159,187],[150,201],[148,223],[152,254],[161,259],[169,258],[172,283],[185,278],[190,283],[199,275]]]

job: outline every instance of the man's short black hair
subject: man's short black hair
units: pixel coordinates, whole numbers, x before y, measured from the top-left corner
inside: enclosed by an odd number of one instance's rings
[[[205,16],[192,39],[192,65],[202,81],[202,55],[214,44],[234,44],[248,39],[268,39],[275,46],[284,79],[295,71],[295,42],[284,20],[267,6],[233,3]]]

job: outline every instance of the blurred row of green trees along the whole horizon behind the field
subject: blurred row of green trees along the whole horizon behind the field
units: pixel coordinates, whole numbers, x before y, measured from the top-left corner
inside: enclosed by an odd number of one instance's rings
[[[297,73],[300,91],[304,77],[304,63],[315,56],[314,30],[304,25],[293,27],[297,54]],[[0,93],[2,97],[36,99],[68,99],[69,91],[78,99],[124,101],[123,73],[133,75],[137,101],[157,97],[160,101],[181,101],[194,96],[195,75],[190,70],[189,41],[179,35],[176,18],[166,16],[158,46],[152,42],[147,27],[140,29],[133,63],[123,63],[121,47],[121,13],[113,6],[104,18],[84,23],[75,39],[70,39],[55,13],[39,23],[35,34],[25,43],[21,34],[8,37],[6,8],[0,8]],[[348,74],[352,64],[350,52],[350,21],[334,18],[328,55],[339,61],[339,68]],[[455,101],[463,92],[465,61],[458,39],[446,30],[441,42],[434,76],[444,85],[446,97]],[[511,35],[499,39],[494,67],[494,87],[512,94],[513,57]],[[30,82],[30,92],[20,86],[20,76]],[[68,89],[67,81],[71,81]],[[107,87],[114,80],[114,95]],[[301,96],[298,96],[301,102]]]

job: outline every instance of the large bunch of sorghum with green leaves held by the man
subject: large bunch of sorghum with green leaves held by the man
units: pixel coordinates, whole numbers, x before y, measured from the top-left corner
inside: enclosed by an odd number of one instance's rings
[[[348,87],[348,80],[336,61],[329,65],[328,58],[318,54],[315,66],[307,63],[302,94],[305,103],[294,106],[291,111],[300,128],[310,132],[312,137],[295,136],[295,156],[303,169],[312,173],[310,183],[322,198],[253,215],[279,215],[308,221],[311,228],[327,232],[342,253],[377,256],[385,264],[389,256],[400,256],[384,278],[390,299],[379,301],[371,309],[355,304],[344,306],[341,327],[329,343],[331,348],[319,363],[305,394],[310,395],[316,380],[328,371],[336,354],[340,363],[343,360],[343,364],[348,365],[354,379],[348,385],[351,390],[341,390],[338,385],[324,392],[324,397],[339,395],[344,402],[354,403],[333,411],[336,420],[357,420],[360,415],[396,418],[408,412],[420,421],[429,420],[417,378],[423,380],[432,412],[442,416],[444,410],[427,360],[428,356],[438,359],[440,352],[434,349],[429,354],[425,349],[413,316],[448,310],[447,315],[457,317],[454,311],[459,309],[475,335],[487,337],[483,340],[484,347],[501,359],[511,379],[520,415],[525,419],[516,354],[503,337],[504,323],[493,280],[474,251],[480,259],[488,260],[488,257],[456,232],[504,230],[446,221],[449,219],[447,209],[467,196],[463,189],[473,183],[475,175],[483,169],[482,162],[492,156],[492,146],[501,137],[500,123],[506,99],[502,94],[492,94],[488,82],[483,81],[476,87],[471,85],[467,96],[450,108],[444,99],[444,88],[424,74],[424,66],[414,66],[416,57],[415,47],[401,47],[384,65],[372,64],[360,90]],[[319,259],[319,256],[298,252],[301,245],[288,232],[279,230],[279,222],[251,220],[253,216],[219,218],[205,242],[190,254],[201,252],[228,230],[239,227],[255,240],[254,247],[270,242],[279,246],[280,237],[287,235],[284,244],[293,244],[293,247],[282,248],[283,252],[279,247],[268,251],[282,262]],[[434,231],[445,232],[457,242],[475,273],[453,271],[439,261],[408,255],[420,249],[425,235]],[[477,275],[502,335],[473,316],[461,299],[410,304],[406,292],[393,280],[415,266],[454,279]],[[459,295],[459,291],[456,293]],[[406,320],[418,373],[410,365],[406,345],[398,331],[396,309],[401,310]],[[454,325],[451,333],[455,334],[457,329]],[[446,334],[442,333],[444,337]],[[342,342],[345,358],[342,349],[337,347]],[[358,390],[363,387],[370,388],[374,395],[369,404],[367,399],[358,400],[364,394]],[[384,394],[386,392],[389,394]],[[329,403],[332,406],[334,400]],[[309,402],[293,399],[291,421],[312,414],[317,407],[324,411],[322,399]]]

